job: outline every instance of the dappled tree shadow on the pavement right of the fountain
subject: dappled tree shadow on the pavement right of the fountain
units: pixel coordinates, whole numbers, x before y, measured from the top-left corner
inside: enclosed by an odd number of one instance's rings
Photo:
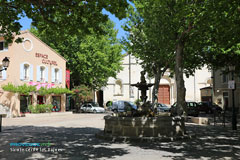
[[[166,157],[173,160],[240,159],[239,131],[232,131],[230,127],[199,125],[188,125],[187,130],[196,134],[196,137],[175,142],[130,143],[130,145],[174,153]]]

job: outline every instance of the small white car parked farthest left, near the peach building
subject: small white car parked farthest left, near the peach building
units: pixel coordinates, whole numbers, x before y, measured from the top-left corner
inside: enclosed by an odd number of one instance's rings
[[[81,111],[90,113],[104,113],[105,109],[100,107],[96,102],[89,102],[81,106]]]

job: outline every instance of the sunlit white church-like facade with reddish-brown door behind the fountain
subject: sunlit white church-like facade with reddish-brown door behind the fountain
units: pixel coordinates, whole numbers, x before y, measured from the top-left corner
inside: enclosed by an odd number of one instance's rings
[[[126,100],[134,102],[140,99],[141,92],[131,86],[140,82],[140,72],[143,70],[139,61],[131,56],[125,55],[123,59],[123,70],[117,74],[117,78],[109,78],[108,85],[103,88],[103,101],[106,104],[108,101]],[[166,72],[159,84],[158,101],[160,103],[171,105],[176,102],[176,83],[174,78],[169,77],[170,73]],[[148,78],[145,75],[147,83],[154,83],[154,79]],[[194,76],[186,77],[186,100],[201,101],[200,89],[208,87],[211,84],[211,71],[206,67],[201,70],[196,70]],[[152,99],[152,88],[147,91],[148,100]]]

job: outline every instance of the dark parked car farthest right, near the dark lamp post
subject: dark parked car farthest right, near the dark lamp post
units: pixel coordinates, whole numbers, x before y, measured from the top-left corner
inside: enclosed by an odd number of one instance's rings
[[[222,112],[222,108],[218,106],[215,103],[211,102],[199,102],[198,103],[198,110],[199,112],[205,112],[205,113],[215,113],[215,112]]]

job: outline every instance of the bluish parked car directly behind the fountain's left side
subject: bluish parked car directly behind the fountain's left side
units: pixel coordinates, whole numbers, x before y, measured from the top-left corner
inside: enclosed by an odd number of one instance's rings
[[[131,111],[137,110],[137,106],[133,102],[130,102],[130,101],[113,102],[111,108],[112,108],[113,112],[125,112],[128,109],[130,109]]]

